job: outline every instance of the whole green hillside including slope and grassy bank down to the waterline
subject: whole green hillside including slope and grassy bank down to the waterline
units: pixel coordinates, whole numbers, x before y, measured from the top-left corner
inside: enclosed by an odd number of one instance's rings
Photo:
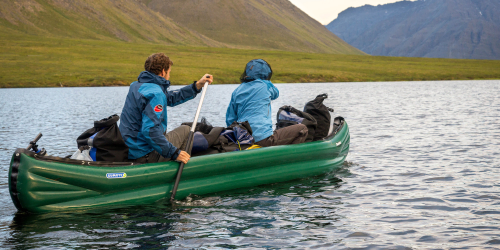
[[[500,78],[500,61],[366,56],[288,0],[0,0],[0,88],[128,85],[155,52],[173,84],[238,83],[255,58],[276,83]]]

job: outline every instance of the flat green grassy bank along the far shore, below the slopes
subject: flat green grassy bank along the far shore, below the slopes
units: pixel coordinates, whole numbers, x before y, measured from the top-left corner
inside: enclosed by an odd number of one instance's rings
[[[273,82],[500,79],[500,61],[309,54],[0,35],[0,87],[128,85],[146,57],[174,61],[172,83],[205,73],[237,83],[251,59],[267,60]]]

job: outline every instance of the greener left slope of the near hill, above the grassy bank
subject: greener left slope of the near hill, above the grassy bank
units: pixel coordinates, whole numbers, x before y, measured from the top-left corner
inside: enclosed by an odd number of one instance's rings
[[[42,37],[222,46],[136,0],[2,0],[0,32]]]

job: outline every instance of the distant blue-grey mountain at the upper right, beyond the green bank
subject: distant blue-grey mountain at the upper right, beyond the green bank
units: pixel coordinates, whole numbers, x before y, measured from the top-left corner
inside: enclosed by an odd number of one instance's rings
[[[326,26],[371,55],[500,59],[500,1],[419,0],[349,8]]]

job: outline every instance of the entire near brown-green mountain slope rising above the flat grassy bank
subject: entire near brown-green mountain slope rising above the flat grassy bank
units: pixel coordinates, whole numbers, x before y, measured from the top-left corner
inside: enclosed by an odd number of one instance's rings
[[[364,54],[288,0],[1,0],[0,33]]]

